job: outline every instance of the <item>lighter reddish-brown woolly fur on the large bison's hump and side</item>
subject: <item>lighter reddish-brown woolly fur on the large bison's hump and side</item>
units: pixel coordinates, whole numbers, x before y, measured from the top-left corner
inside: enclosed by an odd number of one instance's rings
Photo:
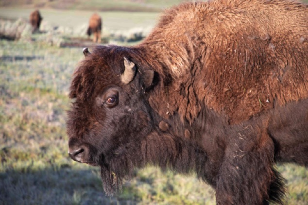
[[[239,123],[274,103],[307,98],[307,25],[307,5],[279,0],[210,1],[167,11],[141,47],[194,92],[180,100],[180,86],[171,85],[170,110],[160,114],[179,109],[192,122],[205,102]]]

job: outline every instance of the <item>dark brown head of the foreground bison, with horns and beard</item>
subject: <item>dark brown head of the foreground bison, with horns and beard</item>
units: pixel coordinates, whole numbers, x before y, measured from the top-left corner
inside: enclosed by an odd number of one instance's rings
[[[153,129],[147,90],[154,71],[141,69],[132,49],[116,46],[84,50],[69,97],[69,156],[101,167],[106,193],[120,188],[134,167],[143,166],[140,147]],[[139,62],[139,61],[138,61]]]

